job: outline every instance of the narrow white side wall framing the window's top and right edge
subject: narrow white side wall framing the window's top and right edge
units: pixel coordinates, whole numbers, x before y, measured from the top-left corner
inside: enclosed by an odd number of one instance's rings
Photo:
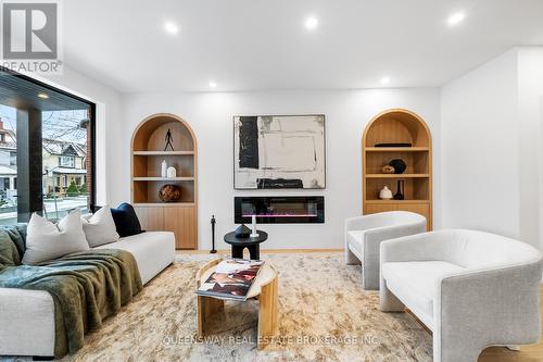
[[[110,198],[109,185],[115,183],[110,176],[116,165],[106,155],[110,154],[110,146],[115,143],[115,135],[119,134],[122,126],[119,93],[67,65],[64,65],[62,75],[37,78],[97,104],[97,204],[106,203]]]

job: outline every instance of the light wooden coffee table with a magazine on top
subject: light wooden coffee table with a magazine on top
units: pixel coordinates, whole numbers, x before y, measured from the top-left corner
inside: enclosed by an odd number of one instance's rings
[[[205,283],[210,275],[215,272],[217,264],[222,259],[213,260],[202,266],[197,273],[197,288]],[[268,262],[264,263],[262,271],[256,276],[248,294],[249,299],[258,300],[258,349],[264,348],[272,342],[277,333],[277,271]],[[213,314],[223,313],[225,300],[217,297],[197,296],[198,297],[198,336],[210,335],[210,319]],[[241,301],[243,303],[243,301]]]

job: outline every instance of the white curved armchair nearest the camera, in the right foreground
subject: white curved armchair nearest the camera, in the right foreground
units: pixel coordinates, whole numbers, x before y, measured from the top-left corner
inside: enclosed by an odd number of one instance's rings
[[[407,307],[433,333],[433,361],[536,342],[541,252],[503,236],[440,230],[381,244],[380,307]]]

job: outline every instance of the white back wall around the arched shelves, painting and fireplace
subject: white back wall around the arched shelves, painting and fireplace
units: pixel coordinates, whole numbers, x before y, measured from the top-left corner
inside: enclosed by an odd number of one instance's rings
[[[430,126],[440,160],[440,101],[438,89],[266,91],[216,93],[138,93],[122,97],[123,124],[109,145],[114,164],[110,201],[130,199],[130,137],[141,120],[153,113],[175,113],[195,132],[199,146],[199,248],[211,246],[210,217],[217,219],[218,248],[233,229],[233,197],[240,195],[324,195],[326,223],[262,225],[269,232],[263,246],[273,248],[341,248],[345,217],[362,210],[361,139],[366,123],[390,108],[418,113]],[[326,115],[327,188],[323,191],[235,191],[232,185],[232,116],[239,114]],[[434,162],[434,223],[440,225],[440,164]]]

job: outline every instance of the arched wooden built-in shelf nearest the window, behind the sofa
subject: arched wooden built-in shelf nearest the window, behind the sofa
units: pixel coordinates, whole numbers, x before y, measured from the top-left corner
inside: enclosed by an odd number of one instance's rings
[[[174,150],[164,149],[172,133]],[[198,247],[198,150],[190,126],[175,114],[160,113],[144,118],[131,141],[131,201],[142,227],[168,230],[176,236],[177,249]],[[177,171],[176,177],[162,177],[162,161]],[[162,202],[159,190],[166,184],[180,188],[177,202]]]

